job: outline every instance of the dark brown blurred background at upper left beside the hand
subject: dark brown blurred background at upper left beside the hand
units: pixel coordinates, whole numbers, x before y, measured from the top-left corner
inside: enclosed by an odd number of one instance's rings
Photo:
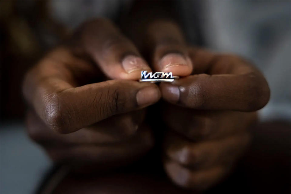
[[[25,72],[65,34],[46,1],[1,1],[1,120],[23,118]]]

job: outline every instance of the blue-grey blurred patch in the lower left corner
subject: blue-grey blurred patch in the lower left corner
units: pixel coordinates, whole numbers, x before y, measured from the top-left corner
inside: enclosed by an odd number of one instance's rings
[[[23,123],[1,123],[0,193],[34,193],[52,166]]]

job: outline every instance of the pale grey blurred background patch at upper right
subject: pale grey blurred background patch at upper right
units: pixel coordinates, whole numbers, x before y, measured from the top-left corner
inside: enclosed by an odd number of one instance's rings
[[[271,90],[262,120],[291,117],[291,2],[203,1],[200,17],[206,47],[253,62]]]

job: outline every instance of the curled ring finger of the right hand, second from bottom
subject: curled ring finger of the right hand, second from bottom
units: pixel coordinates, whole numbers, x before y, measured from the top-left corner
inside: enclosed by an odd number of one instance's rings
[[[248,133],[239,133],[220,140],[191,142],[174,133],[165,141],[166,155],[183,166],[195,169],[233,163],[249,143]]]

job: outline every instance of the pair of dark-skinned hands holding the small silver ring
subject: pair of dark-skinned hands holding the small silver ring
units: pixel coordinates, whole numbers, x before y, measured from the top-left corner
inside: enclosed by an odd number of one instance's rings
[[[246,147],[268,84],[237,56],[187,47],[172,22],[152,22],[145,34],[147,60],[104,19],[83,24],[70,45],[47,54],[23,84],[28,134],[54,161],[120,166],[152,148],[146,107],[162,98],[166,173],[182,187],[206,189]],[[181,78],[158,87],[135,81],[142,70]]]

